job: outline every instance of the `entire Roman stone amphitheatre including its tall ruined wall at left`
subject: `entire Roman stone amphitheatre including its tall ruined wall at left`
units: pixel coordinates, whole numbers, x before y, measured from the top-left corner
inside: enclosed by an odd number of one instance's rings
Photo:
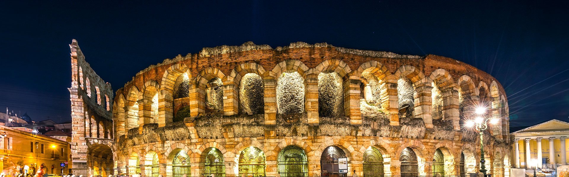
[[[509,176],[504,89],[452,58],[248,42],[166,59],[113,95],[70,46],[75,174],[464,175],[480,144],[463,124],[484,106],[500,118],[486,169]]]

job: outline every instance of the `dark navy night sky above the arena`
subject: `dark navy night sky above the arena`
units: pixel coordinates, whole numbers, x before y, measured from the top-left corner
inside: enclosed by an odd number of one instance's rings
[[[0,111],[70,120],[72,39],[114,90],[149,65],[203,47],[304,41],[451,57],[498,79],[511,127],[569,121],[567,4],[237,2],[1,1]]]

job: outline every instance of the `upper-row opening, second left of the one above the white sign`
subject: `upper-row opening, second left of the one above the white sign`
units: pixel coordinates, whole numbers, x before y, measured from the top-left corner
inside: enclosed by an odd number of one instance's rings
[[[263,78],[255,73],[247,73],[239,85],[241,112],[248,115],[265,112],[265,88]]]

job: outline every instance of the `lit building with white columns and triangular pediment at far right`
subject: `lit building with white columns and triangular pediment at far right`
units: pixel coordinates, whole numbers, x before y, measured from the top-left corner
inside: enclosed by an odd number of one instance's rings
[[[512,164],[518,168],[555,168],[567,164],[569,123],[550,120],[511,133]],[[528,163],[529,162],[529,163]]]

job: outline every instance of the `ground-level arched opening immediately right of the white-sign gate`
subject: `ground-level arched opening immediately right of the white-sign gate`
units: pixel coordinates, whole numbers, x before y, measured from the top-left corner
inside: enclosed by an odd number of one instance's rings
[[[364,152],[364,177],[382,177],[384,172],[384,157],[376,147],[369,147]]]

